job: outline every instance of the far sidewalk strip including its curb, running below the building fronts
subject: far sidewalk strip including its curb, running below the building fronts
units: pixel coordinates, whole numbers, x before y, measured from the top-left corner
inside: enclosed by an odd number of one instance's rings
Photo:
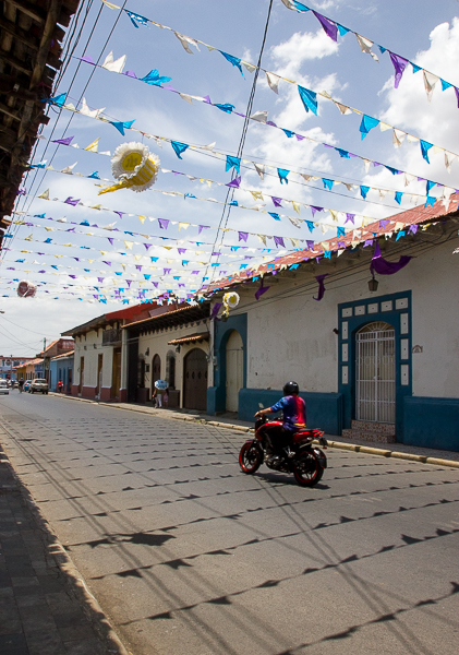
[[[97,403],[87,398],[80,398],[71,395],[61,395],[50,392],[51,395],[71,401],[83,403]],[[249,432],[253,429],[252,421],[239,420],[235,415],[209,416],[200,414],[198,412],[190,412],[185,409],[155,409],[147,405],[136,405],[131,403],[99,403],[104,407],[113,409],[128,409],[129,412],[140,412],[141,414],[150,414],[153,416],[161,416],[162,418],[171,418],[176,420],[202,421],[210,426],[225,427],[241,432]],[[357,439],[346,439],[345,437],[335,437],[334,434],[325,434],[330,448],[340,450],[349,450],[372,455],[381,455],[383,457],[394,457],[398,460],[411,460],[423,464],[432,464],[435,466],[450,466],[459,468],[459,452],[437,450],[433,448],[419,448],[415,445],[404,445],[403,443],[381,443],[372,441],[358,441]]]

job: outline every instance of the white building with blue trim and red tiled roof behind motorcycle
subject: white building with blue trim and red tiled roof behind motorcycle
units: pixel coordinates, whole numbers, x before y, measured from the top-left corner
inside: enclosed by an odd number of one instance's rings
[[[240,303],[214,323],[207,412],[250,420],[295,380],[312,427],[459,450],[457,207],[455,195],[448,213],[439,202],[410,210],[367,226],[340,257],[335,239],[321,257],[294,253],[210,287],[214,306],[229,289]]]

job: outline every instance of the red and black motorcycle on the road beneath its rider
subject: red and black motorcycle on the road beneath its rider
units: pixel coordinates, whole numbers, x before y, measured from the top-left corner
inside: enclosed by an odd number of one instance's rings
[[[262,416],[255,421],[255,438],[250,439],[241,448],[239,464],[243,473],[254,474],[263,462],[274,471],[293,473],[294,479],[302,487],[313,487],[324,475],[327,467],[325,453],[313,445],[314,439],[326,450],[327,440],[323,430],[300,429],[293,434],[291,449],[282,450],[279,456],[274,453],[271,437],[276,438],[282,428],[282,421],[268,420]]]

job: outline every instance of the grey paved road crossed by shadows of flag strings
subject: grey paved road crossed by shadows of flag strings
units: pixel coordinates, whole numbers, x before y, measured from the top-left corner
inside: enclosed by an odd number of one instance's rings
[[[228,429],[15,392],[0,421],[134,655],[457,652],[458,471],[329,450],[302,489]]]

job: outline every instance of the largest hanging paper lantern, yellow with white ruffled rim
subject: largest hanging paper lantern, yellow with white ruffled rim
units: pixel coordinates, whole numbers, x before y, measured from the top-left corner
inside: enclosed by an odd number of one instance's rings
[[[101,193],[110,193],[118,189],[132,189],[140,193],[156,182],[159,170],[159,157],[152,154],[143,143],[122,143],[114,151],[111,159],[111,172],[119,184],[102,189]]]

